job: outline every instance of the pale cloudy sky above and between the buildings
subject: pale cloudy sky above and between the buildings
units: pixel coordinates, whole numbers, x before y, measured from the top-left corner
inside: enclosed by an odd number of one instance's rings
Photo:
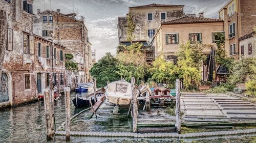
[[[229,0],[34,0],[33,12],[37,9],[60,9],[60,13],[77,13],[77,19],[84,16],[89,31],[92,49],[96,49],[98,61],[106,52],[116,53],[118,46],[117,17],[125,16],[129,7],[156,4],[185,5],[184,12],[197,14],[204,12],[204,17],[218,18],[218,11]],[[74,6],[74,8],[73,8]]]

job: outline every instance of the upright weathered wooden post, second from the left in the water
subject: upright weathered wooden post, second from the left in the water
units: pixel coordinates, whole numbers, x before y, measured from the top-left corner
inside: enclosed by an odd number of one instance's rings
[[[70,88],[64,88],[66,108],[66,140],[70,140]]]

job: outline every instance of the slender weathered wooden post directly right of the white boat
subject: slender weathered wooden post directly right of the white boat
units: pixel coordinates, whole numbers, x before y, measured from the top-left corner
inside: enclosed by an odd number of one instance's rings
[[[133,132],[137,132],[137,114],[138,114],[138,107],[137,107],[137,92],[135,87],[135,79],[132,77],[132,101],[133,101]]]

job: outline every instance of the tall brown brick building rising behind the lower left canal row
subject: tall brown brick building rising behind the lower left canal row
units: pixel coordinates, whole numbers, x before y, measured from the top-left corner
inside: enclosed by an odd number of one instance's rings
[[[68,72],[75,74],[68,76],[75,76],[78,78],[76,81],[81,83],[91,81],[89,70],[92,51],[84,17],[78,20],[75,16],[75,13],[62,14],[59,9],[44,12],[37,10],[33,16],[33,30],[35,34],[46,39],[53,38],[54,43],[67,47],[66,53],[72,53],[73,61],[78,63],[78,72]]]

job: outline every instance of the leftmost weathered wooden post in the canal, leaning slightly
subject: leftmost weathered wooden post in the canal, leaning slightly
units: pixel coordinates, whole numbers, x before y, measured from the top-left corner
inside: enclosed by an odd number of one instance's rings
[[[49,89],[44,89],[44,104],[46,114],[46,128],[47,128],[47,139],[52,139],[52,125],[51,125],[51,105],[50,105],[50,93]]]

